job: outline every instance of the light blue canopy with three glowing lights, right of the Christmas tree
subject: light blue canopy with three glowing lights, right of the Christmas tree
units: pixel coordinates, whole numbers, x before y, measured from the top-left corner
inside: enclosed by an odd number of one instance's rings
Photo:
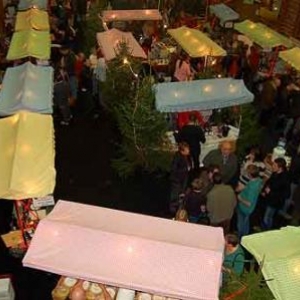
[[[232,78],[159,83],[155,104],[161,112],[207,110],[252,102],[243,80]]]

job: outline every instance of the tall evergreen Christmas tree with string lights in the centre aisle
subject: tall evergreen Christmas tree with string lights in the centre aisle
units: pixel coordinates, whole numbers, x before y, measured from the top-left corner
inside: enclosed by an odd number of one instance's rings
[[[155,109],[152,86],[151,74],[144,76],[141,61],[131,56],[126,41],[120,42],[116,58],[108,63],[103,91],[104,105],[121,134],[113,166],[122,177],[136,170],[167,171],[170,166],[167,121]]]

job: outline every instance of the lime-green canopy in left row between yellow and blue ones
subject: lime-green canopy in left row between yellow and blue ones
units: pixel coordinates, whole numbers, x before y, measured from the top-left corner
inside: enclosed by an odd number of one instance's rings
[[[50,58],[50,33],[26,30],[15,32],[7,53],[8,60],[32,56],[38,59]]]

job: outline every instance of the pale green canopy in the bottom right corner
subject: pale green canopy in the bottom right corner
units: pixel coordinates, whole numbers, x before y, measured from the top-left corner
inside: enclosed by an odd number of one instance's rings
[[[242,245],[262,265],[277,300],[300,298],[300,228],[285,227],[243,237]]]

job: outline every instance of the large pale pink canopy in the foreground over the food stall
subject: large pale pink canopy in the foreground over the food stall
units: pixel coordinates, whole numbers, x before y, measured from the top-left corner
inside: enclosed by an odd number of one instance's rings
[[[223,250],[221,228],[60,200],[39,223],[23,264],[160,296],[217,300]]]

